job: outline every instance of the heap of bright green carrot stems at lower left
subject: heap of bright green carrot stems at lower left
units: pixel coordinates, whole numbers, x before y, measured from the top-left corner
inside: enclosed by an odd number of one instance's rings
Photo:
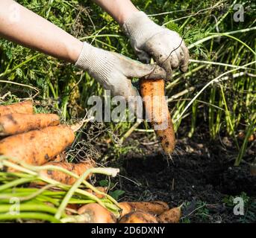
[[[16,160],[16,158],[12,158]],[[81,176],[75,184],[62,184],[54,179],[40,176],[40,170],[43,167],[37,167],[20,162],[19,165],[10,161],[6,156],[0,156],[1,167],[13,168],[19,170],[19,173],[0,172],[0,220],[16,221],[17,219],[31,219],[48,222],[78,222],[77,212],[67,213],[66,206],[69,204],[90,204],[99,203],[107,208],[116,218],[119,217],[119,208],[113,197],[104,193],[104,199],[99,199],[91,193],[87,193],[84,188],[89,188],[102,195],[102,192],[93,187],[88,181],[84,180],[90,173],[102,174],[104,176],[113,176],[117,172],[111,172],[111,168],[91,168]],[[18,167],[18,169],[17,169]],[[61,167],[54,166],[51,170],[61,170],[61,173],[75,177],[76,175],[69,170],[63,170]],[[45,186],[41,188],[28,187],[31,182],[43,181]],[[51,190],[52,187],[57,190]],[[78,188],[79,187],[79,188]],[[119,196],[121,193],[116,193]]]

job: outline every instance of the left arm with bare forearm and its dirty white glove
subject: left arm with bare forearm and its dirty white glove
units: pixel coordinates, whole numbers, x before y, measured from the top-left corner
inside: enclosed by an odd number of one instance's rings
[[[154,65],[143,65],[121,54],[81,42],[13,0],[0,0],[0,36],[75,63],[101,83],[104,89],[110,89],[112,94],[126,99],[137,95],[130,78],[151,75],[155,68]],[[161,68],[158,71],[159,76],[152,75],[164,78],[165,71]]]

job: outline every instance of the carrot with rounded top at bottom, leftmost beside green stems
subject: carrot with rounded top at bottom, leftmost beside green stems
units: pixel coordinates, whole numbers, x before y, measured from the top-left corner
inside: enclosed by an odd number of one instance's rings
[[[78,209],[79,215],[84,215],[84,223],[116,223],[116,218],[113,213],[109,210],[103,208],[98,203],[91,203],[84,205]]]

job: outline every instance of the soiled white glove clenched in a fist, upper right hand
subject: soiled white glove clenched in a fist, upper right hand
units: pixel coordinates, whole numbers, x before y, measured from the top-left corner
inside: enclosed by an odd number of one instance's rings
[[[187,71],[189,51],[177,32],[160,27],[143,12],[133,13],[122,28],[140,60],[149,62],[153,57],[165,69],[167,80],[172,78],[173,68]]]

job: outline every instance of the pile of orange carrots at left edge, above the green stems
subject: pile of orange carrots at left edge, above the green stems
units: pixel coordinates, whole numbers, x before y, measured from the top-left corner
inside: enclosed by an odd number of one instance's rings
[[[72,126],[60,125],[54,114],[34,114],[33,103],[28,100],[0,106],[0,155],[17,164],[56,165],[81,176],[93,162],[72,164],[63,161],[63,151],[75,140]],[[7,168],[8,172],[15,170]],[[42,176],[74,184],[76,179],[60,171],[42,171]]]

